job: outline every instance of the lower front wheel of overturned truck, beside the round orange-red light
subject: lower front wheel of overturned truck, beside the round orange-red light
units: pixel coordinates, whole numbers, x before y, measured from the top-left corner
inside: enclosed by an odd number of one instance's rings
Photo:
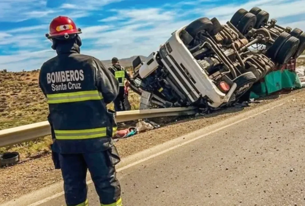
[[[237,84],[237,87],[234,92],[236,95],[236,99],[238,99],[246,91],[248,91],[256,80],[257,78],[253,74],[253,72],[243,73],[242,75],[239,75],[238,77],[233,79],[233,82]]]

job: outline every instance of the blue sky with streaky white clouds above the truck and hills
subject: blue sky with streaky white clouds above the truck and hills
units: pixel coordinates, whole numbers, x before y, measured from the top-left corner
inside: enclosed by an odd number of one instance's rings
[[[81,53],[106,60],[147,56],[198,17],[225,23],[239,8],[253,6],[282,26],[305,31],[305,0],[1,0],[0,70],[39,69],[55,56],[45,33],[59,15],[69,16],[82,29]]]

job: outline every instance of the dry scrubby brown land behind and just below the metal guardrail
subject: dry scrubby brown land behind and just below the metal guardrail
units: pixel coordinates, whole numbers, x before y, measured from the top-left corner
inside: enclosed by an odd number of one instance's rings
[[[127,68],[127,70],[130,68]],[[48,104],[38,85],[39,71],[0,71],[0,130],[47,120]],[[138,109],[139,96],[130,91],[131,109]],[[113,109],[113,103],[109,104]],[[50,136],[0,148],[0,153],[16,151],[21,157],[49,152]]]

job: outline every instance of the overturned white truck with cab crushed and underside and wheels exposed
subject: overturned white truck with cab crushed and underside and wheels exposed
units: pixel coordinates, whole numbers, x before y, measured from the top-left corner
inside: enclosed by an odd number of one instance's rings
[[[133,61],[130,87],[141,95],[140,109],[235,103],[274,66],[305,50],[302,30],[276,22],[254,7],[239,9],[225,25],[203,17],[176,30],[145,62]]]

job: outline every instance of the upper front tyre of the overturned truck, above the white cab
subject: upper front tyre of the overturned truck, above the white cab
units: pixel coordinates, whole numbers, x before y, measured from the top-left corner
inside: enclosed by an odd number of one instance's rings
[[[195,38],[197,33],[202,30],[206,30],[208,33],[213,30],[213,23],[210,19],[206,17],[199,18],[185,27],[185,31],[187,31],[193,38]]]

